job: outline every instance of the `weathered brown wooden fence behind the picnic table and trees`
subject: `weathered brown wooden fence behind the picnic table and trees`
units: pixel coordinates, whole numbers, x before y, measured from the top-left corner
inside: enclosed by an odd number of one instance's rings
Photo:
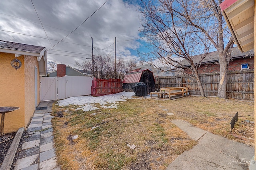
[[[220,73],[200,74],[206,96],[217,96]],[[195,79],[188,76],[156,78],[156,89],[166,86],[188,87],[190,95],[200,95]],[[227,96],[240,100],[254,100],[254,70],[228,72]]]

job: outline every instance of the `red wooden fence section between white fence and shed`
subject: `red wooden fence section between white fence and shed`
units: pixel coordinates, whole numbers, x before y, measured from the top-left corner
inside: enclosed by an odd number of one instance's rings
[[[121,79],[98,79],[92,80],[92,96],[103,96],[106,94],[115,94],[122,92],[122,80]]]

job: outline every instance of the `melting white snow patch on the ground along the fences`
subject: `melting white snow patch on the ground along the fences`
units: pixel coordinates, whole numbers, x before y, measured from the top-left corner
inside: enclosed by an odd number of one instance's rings
[[[96,110],[94,104],[99,103],[102,108],[117,108],[119,102],[126,101],[131,99],[134,96],[134,92],[120,92],[116,94],[108,94],[104,96],[92,97],[92,96],[78,96],[71,97],[64,100],[58,101],[57,105],[59,106],[68,106],[68,105],[78,105],[81,106],[76,110],[83,109],[83,111]]]

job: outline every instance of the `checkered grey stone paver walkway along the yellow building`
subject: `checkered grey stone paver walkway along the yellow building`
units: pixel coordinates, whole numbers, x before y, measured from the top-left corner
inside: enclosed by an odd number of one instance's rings
[[[14,170],[60,170],[53,145],[51,111],[34,112]]]

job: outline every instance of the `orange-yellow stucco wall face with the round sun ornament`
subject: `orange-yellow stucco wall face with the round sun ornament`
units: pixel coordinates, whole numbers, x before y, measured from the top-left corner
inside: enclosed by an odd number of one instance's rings
[[[10,65],[14,58],[14,54],[0,53],[0,106],[20,107],[5,114],[4,133],[17,131],[25,125],[24,56],[18,57],[22,62],[22,67],[18,70]]]

